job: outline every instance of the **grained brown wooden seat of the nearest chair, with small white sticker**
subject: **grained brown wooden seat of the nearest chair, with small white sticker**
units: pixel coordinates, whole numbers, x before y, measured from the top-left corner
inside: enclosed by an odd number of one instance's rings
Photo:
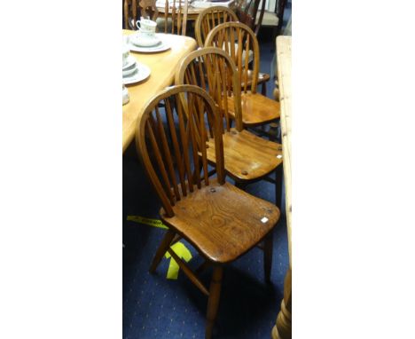
[[[208,186],[178,201],[174,217],[163,223],[185,234],[200,253],[215,263],[229,263],[261,241],[278,222],[279,210],[228,182]],[[266,217],[267,221],[262,222]]]

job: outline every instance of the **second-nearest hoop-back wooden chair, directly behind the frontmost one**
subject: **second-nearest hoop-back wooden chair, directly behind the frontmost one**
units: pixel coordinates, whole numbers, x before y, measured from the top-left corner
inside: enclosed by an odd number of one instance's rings
[[[239,73],[231,57],[214,47],[192,51],[181,61],[175,83],[199,86],[215,100],[224,126],[222,133],[226,173],[240,188],[261,179],[275,184],[276,205],[281,208],[282,145],[244,130]],[[236,128],[231,128],[228,96],[233,100]],[[207,138],[207,146],[207,161],[215,165],[215,140]],[[270,177],[273,172],[276,173],[275,180]]]

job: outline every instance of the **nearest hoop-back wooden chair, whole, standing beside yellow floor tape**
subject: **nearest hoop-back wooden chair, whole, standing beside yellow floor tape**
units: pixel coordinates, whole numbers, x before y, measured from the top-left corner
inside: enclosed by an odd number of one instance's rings
[[[158,108],[161,101],[165,110]],[[210,122],[209,127],[205,121]],[[206,338],[212,336],[224,264],[264,240],[265,279],[270,280],[271,231],[279,218],[276,206],[225,181],[221,122],[206,91],[181,85],[161,91],[148,102],[139,114],[136,132],[137,153],[161,200],[161,220],[168,226],[150,272],[155,272],[168,252],[208,296]],[[215,139],[215,178],[207,176],[207,134]],[[213,266],[209,289],[170,248],[181,238],[206,259],[197,272]]]

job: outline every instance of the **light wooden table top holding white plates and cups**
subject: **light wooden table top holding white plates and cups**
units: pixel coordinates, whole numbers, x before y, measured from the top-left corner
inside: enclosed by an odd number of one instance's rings
[[[135,31],[122,30],[123,35],[133,34]],[[196,49],[196,40],[189,36],[169,35],[171,48],[159,53],[137,53],[131,51],[137,61],[150,67],[150,77],[142,83],[127,85],[129,103],[122,106],[122,153],[136,133],[137,117],[145,103],[153,96],[170,86],[175,77],[180,60]]]

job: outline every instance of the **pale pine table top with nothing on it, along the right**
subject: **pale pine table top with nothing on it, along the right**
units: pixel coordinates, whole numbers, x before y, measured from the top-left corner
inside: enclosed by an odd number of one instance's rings
[[[286,184],[286,226],[291,267],[291,36],[280,35],[277,37],[277,63],[284,180]]]

